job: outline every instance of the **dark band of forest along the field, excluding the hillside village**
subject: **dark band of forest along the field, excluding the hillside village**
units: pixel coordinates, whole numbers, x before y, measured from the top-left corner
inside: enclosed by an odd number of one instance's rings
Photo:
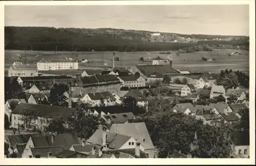
[[[126,35],[131,35],[125,33]],[[197,45],[249,45],[246,39],[232,41],[199,41],[197,43],[145,42],[143,35],[128,39],[127,36],[96,32],[80,32],[79,29],[55,29],[54,27],[5,27],[5,49],[31,49],[55,51],[169,51]],[[134,34],[136,36],[136,34]]]

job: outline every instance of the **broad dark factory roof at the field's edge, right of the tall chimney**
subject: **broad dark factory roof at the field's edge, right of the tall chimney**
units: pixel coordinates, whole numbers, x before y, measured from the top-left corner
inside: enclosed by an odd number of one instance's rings
[[[160,74],[179,73],[177,70],[175,70],[169,65],[136,65],[136,68],[143,75],[151,75],[155,71],[159,72]]]

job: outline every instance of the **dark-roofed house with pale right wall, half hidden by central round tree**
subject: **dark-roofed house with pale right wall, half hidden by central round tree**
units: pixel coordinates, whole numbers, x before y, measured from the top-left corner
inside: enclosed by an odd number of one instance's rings
[[[125,97],[133,97],[137,101],[137,105],[140,107],[145,107],[145,109],[148,109],[148,100],[138,91],[137,89],[131,90],[127,92],[123,99]]]

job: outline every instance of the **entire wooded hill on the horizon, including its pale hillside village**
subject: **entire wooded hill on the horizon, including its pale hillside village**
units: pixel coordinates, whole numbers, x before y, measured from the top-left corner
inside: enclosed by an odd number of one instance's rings
[[[194,45],[249,45],[246,36],[182,35],[121,29],[5,27],[5,49],[59,51],[178,50]]]

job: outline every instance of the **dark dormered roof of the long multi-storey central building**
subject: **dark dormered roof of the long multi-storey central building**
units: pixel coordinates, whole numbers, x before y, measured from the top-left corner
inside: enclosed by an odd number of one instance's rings
[[[96,87],[112,84],[120,84],[120,80],[114,75],[93,75],[82,77],[83,87]]]

